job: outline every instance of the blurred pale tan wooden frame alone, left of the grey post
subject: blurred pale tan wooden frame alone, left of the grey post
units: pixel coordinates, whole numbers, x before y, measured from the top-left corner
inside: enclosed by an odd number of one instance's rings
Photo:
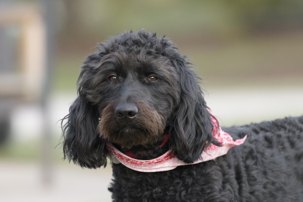
[[[45,24],[41,8],[33,5],[0,8],[0,28],[1,31],[8,32],[2,36],[4,40],[9,37],[17,40],[15,61],[6,61],[0,66],[0,98],[18,97],[26,101],[40,99],[45,79],[46,55]],[[9,33],[10,29],[13,29],[13,33]],[[11,45],[6,43],[6,46]],[[0,47],[1,52],[6,54],[6,48],[8,47]],[[12,62],[16,63],[15,70],[11,66],[2,66]]]

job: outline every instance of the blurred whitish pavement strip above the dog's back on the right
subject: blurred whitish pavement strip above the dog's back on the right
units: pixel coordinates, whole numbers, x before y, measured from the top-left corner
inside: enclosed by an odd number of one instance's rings
[[[215,89],[208,92],[205,100],[222,125],[248,124],[303,115],[303,86]]]

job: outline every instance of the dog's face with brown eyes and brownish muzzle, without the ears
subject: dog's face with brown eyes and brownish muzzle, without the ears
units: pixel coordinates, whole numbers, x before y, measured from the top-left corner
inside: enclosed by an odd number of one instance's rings
[[[99,135],[124,148],[157,141],[180,97],[169,60],[138,51],[139,57],[121,50],[101,59],[94,81],[100,94],[91,96],[98,105]]]

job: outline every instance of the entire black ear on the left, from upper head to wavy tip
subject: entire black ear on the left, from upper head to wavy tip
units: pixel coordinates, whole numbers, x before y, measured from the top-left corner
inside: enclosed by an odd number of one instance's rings
[[[84,62],[77,81],[78,97],[61,121],[64,159],[86,168],[106,166],[106,141],[97,132],[98,108],[88,100],[93,67],[98,61],[96,54],[91,54]]]

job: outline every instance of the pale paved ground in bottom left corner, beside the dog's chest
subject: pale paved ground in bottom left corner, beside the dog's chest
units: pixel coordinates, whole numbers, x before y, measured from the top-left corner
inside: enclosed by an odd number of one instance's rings
[[[110,202],[110,169],[53,165],[49,183],[39,163],[0,160],[0,202]]]

